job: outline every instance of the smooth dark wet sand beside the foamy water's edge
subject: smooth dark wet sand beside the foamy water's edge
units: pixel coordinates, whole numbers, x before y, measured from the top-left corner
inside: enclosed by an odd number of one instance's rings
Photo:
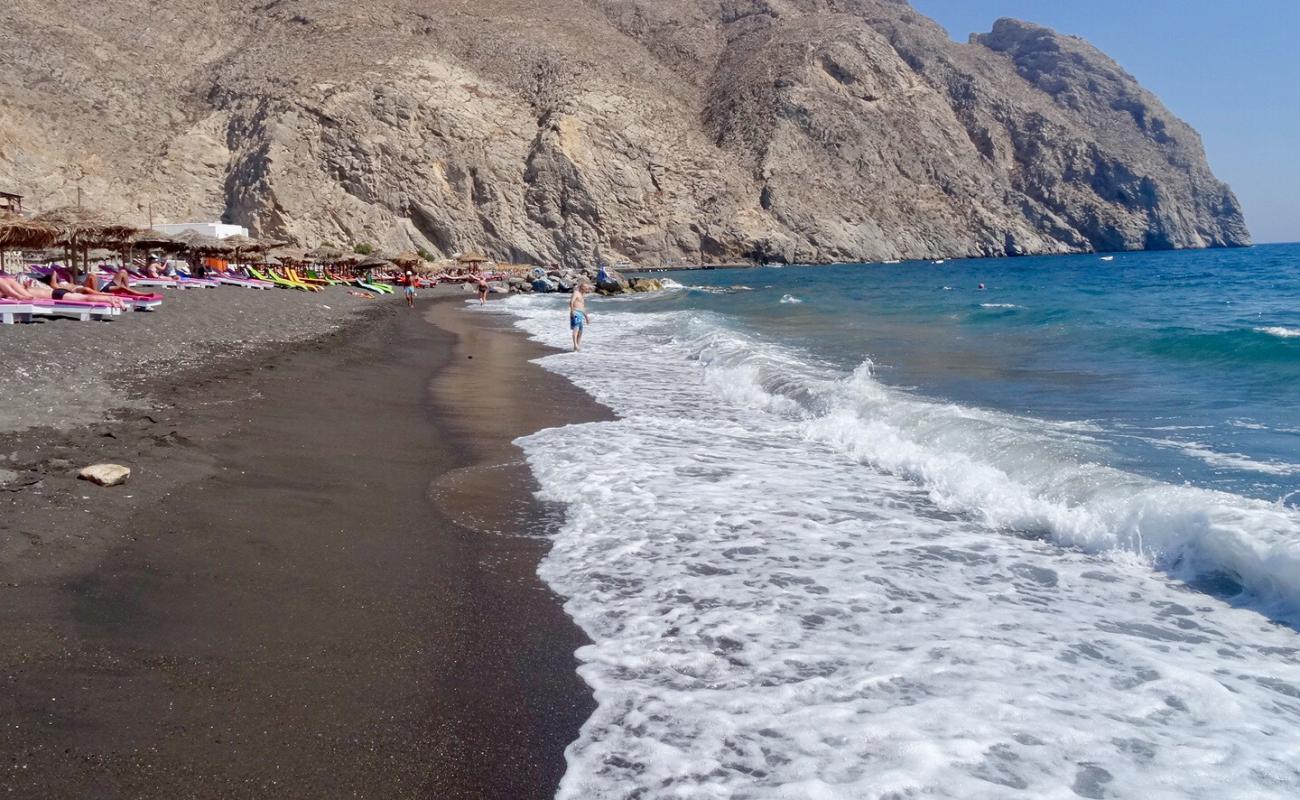
[[[607,412],[480,320],[386,308],[55,437],[136,475],[0,493],[0,793],[552,796],[593,704],[510,442]]]

